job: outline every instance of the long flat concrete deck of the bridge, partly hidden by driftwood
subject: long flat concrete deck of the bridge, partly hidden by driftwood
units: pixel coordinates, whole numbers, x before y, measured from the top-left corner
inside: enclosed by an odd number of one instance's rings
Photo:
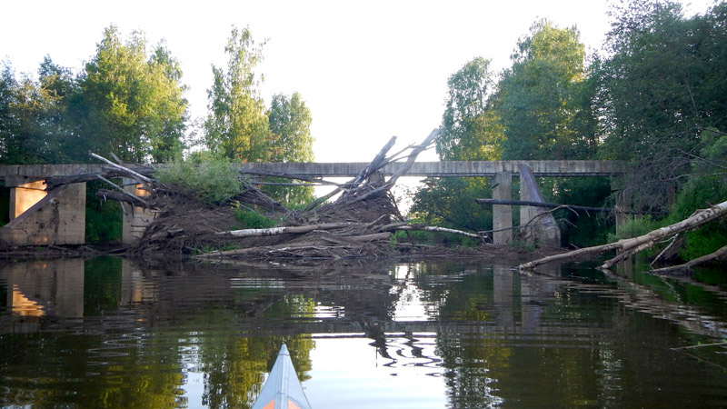
[[[620,161],[452,161],[452,162],[417,162],[406,173],[407,176],[493,176],[501,172],[517,175],[520,165],[526,164],[533,169],[535,176],[608,176],[623,173],[624,164]],[[358,175],[368,163],[264,163],[236,164],[241,171],[284,173],[290,175],[351,177]],[[391,175],[404,164],[395,162],[383,168],[385,175]],[[30,176],[44,178],[46,176],[71,175],[78,168],[82,173],[100,172],[104,165],[0,165],[0,179],[13,176]]]

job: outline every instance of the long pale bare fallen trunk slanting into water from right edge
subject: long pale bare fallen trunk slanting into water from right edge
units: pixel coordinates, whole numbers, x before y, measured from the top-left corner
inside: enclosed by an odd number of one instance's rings
[[[702,224],[712,222],[713,220],[717,220],[725,215],[727,215],[727,202],[722,202],[719,205],[713,205],[710,208],[698,210],[681,222],[670,224],[666,227],[654,230],[648,234],[642,234],[638,237],[633,237],[629,239],[622,239],[611,244],[596,245],[593,247],[585,247],[563,254],[550,255],[548,257],[533,260],[529,263],[520,264],[518,265],[518,269],[520,271],[532,270],[533,267],[535,267],[536,265],[551,263],[553,261],[559,260],[568,260],[584,254],[597,254],[609,250],[621,251],[621,253],[618,254],[616,257],[608,260],[607,262],[603,263],[603,265],[601,265],[601,268],[603,269],[610,269],[614,264],[632,256],[633,254],[651,248],[654,244],[661,242],[665,238],[668,238],[674,234],[694,230]]]

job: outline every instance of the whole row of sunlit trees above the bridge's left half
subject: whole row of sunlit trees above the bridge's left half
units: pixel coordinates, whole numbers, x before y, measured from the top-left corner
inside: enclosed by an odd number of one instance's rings
[[[75,73],[50,56],[37,77],[0,72],[0,164],[88,162],[88,151],[134,163],[171,162],[185,149],[230,161],[312,161],[311,113],[300,95],[259,91],[263,44],[232,28],[226,67],[213,66],[208,115],[192,121],[178,60],[143,32],[111,25]]]

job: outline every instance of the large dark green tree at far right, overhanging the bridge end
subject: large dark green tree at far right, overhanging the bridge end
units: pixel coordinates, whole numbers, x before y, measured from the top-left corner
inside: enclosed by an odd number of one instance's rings
[[[677,3],[632,0],[612,15],[600,155],[632,161],[633,206],[665,210],[710,144],[704,130],[727,127],[727,4],[685,19]]]

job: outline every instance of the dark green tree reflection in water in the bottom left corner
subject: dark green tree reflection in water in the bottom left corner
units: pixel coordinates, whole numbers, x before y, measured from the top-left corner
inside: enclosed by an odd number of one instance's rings
[[[33,407],[186,407],[176,348],[166,340],[161,334],[118,339],[5,334],[0,338],[0,368],[5,368],[0,402]],[[63,364],[49,364],[53,362]]]

